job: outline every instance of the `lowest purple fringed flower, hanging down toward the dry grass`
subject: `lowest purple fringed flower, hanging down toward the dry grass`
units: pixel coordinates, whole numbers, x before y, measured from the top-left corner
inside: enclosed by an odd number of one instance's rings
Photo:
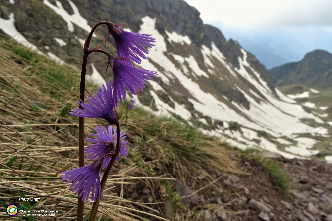
[[[96,163],[97,161],[93,162],[91,165],[61,173],[61,175],[63,175],[61,181],[68,180],[67,184],[73,182],[69,188],[74,187],[72,191],[76,191],[75,194],[78,193],[78,196],[82,197],[82,200],[88,201],[91,188],[92,201],[96,202],[97,197],[99,201],[103,199],[99,176],[101,165]]]

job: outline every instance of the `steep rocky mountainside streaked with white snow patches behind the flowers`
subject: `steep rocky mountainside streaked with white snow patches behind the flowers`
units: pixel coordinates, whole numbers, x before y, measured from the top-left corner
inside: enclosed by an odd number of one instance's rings
[[[148,59],[138,66],[157,71],[158,77],[135,98],[137,103],[185,120],[239,148],[258,146],[287,157],[319,152],[311,148],[319,139],[328,139],[330,126],[275,89],[264,65],[238,42],[226,41],[217,28],[204,25],[199,12],[184,1],[131,3],[5,2],[8,10],[1,9],[0,24],[8,25],[0,28],[13,37],[19,31],[41,53],[55,54],[79,67],[83,39],[95,23],[128,23],[125,31],[156,38]],[[103,44],[112,53],[115,47],[111,40],[104,43],[105,35],[105,28],[98,28],[91,47]],[[111,71],[104,74],[104,55],[94,54],[89,62],[93,78],[112,79]],[[315,126],[303,119],[311,119]]]

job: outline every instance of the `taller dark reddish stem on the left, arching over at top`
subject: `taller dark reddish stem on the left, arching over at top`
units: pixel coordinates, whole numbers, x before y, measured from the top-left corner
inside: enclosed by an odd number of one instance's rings
[[[107,25],[107,26],[113,26],[114,24],[112,22],[98,22],[95,26],[93,26],[91,32],[86,37],[84,42],[84,48],[83,48],[83,61],[82,61],[82,70],[81,70],[81,83],[80,83],[80,100],[84,102],[85,98],[85,75],[86,75],[86,67],[88,63],[88,56],[91,53],[89,50],[90,41],[93,35],[93,32],[96,30],[96,28],[100,25]],[[83,109],[80,105],[80,109]],[[84,117],[78,118],[78,166],[84,167]],[[83,221],[83,215],[84,215],[84,201],[82,200],[82,197],[78,198],[77,202],[77,220]]]

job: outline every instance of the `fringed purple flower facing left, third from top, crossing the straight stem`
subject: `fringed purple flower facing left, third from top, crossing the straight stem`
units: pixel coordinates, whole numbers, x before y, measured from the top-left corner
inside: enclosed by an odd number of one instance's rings
[[[119,115],[114,109],[112,90],[112,83],[106,82],[106,87],[105,85],[103,85],[103,88],[99,87],[99,92],[95,91],[95,96],[90,95],[91,98],[86,97],[90,103],[82,102],[82,100],[77,102],[84,109],[75,108],[75,110],[69,110],[72,111],[69,113],[79,117],[102,118],[110,124],[116,124]]]

